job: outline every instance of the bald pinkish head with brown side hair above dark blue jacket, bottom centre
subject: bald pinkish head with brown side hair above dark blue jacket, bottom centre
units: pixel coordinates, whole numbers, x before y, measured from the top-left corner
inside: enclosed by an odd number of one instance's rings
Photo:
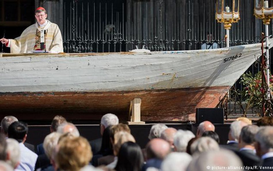
[[[146,145],[147,159],[163,160],[170,152],[170,144],[161,138],[154,138]]]

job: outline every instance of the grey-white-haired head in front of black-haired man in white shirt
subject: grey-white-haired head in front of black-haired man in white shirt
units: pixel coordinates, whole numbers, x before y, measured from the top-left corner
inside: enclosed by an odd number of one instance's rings
[[[7,163],[10,164],[14,169],[20,164],[20,147],[18,141],[7,138],[7,149],[6,153],[9,157],[7,157]]]

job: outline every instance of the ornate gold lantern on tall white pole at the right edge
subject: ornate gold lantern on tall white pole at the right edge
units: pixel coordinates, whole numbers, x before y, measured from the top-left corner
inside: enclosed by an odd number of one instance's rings
[[[266,29],[266,81],[269,85],[269,47],[268,47],[268,25],[271,18],[273,18],[273,0],[254,0],[255,8],[254,15],[256,18],[262,19]],[[269,88],[269,87],[268,87]],[[270,97],[270,91],[267,91],[267,98]]]

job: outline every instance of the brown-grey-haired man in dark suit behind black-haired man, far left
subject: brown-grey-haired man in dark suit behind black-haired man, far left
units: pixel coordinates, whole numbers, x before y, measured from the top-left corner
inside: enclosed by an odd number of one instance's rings
[[[15,121],[18,121],[18,119],[14,116],[5,116],[1,121],[1,132],[5,135],[6,138],[8,138],[7,131],[9,126],[14,123]],[[32,144],[29,144],[27,142],[24,142],[24,145],[30,149],[31,151],[35,152],[35,146]]]

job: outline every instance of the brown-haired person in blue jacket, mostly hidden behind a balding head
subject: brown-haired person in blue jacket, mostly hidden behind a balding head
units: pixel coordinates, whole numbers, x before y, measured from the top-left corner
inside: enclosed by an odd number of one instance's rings
[[[60,115],[56,115],[50,125],[50,133],[56,132],[58,127],[63,124],[67,123],[66,119]],[[37,155],[42,155],[45,153],[45,150],[43,149],[43,143],[37,145]]]

